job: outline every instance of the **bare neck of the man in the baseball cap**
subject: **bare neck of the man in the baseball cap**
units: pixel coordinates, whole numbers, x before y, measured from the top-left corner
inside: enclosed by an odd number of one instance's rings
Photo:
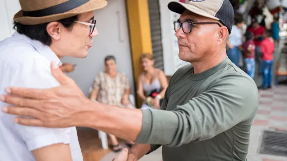
[[[222,51],[221,54],[213,54],[214,56],[203,58],[200,62],[192,62],[193,66],[193,73],[199,74],[204,71],[207,71],[215,66],[217,66],[219,63],[221,63],[226,58],[226,51]]]

